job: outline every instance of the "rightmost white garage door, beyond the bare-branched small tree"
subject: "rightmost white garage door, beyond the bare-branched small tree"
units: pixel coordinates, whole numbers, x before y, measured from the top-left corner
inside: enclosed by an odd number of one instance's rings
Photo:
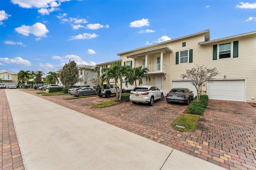
[[[207,95],[209,99],[244,101],[244,80],[215,80],[208,83]]]

